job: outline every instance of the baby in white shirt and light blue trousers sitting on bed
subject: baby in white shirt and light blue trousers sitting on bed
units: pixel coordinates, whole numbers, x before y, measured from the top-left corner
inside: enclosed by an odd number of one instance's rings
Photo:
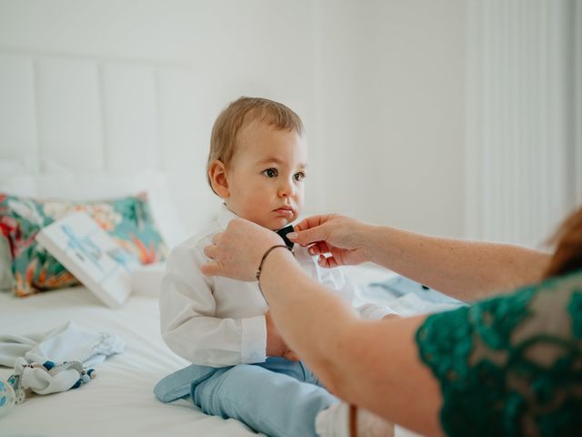
[[[294,361],[258,284],[200,272],[207,261],[204,247],[231,219],[277,231],[299,217],[306,163],[304,127],[288,107],[241,97],[217,117],[207,177],[225,203],[208,229],[173,250],[160,296],[162,336],[193,365],[156,385],[160,400],[189,394],[203,412],[238,419],[270,436],[347,435],[346,408]],[[313,278],[353,300],[339,269],[321,269],[306,248],[296,245],[293,253]],[[357,310],[366,319],[393,312],[374,304]]]

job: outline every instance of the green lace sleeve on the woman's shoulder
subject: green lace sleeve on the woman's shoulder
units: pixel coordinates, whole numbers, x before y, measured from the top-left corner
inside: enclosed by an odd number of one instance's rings
[[[582,435],[582,272],[429,316],[416,343],[447,435]]]

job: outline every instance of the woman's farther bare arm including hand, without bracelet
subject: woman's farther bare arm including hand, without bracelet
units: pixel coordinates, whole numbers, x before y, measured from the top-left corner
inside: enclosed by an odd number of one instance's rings
[[[301,245],[316,243],[320,264],[372,261],[460,300],[477,300],[537,282],[550,255],[507,244],[429,237],[342,216],[315,216],[296,225]],[[323,254],[331,253],[330,258]]]

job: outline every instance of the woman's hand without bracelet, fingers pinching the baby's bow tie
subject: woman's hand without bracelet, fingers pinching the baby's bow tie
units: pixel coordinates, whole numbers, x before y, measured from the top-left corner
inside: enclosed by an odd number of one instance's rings
[[[355,265],[370,260],[366,231],[371,227],[365,223],[328,214],[308,217],[294,228],[295,232],[287,234],[287,238],[301,246],[312,245],[309,253],[319,255],[321,267]]]

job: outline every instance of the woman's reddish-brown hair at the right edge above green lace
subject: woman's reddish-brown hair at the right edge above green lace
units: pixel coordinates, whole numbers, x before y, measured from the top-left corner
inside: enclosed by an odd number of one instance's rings
[[[556,244],[545,278],[582,269],[582,208],[577,208],[549,240]]]

